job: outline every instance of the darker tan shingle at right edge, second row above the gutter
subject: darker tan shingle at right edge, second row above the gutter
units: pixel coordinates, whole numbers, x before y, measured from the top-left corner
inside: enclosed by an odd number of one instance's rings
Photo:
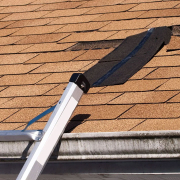
[[[120,118],[177,118],[179,109],[180,103],[138,104]]]

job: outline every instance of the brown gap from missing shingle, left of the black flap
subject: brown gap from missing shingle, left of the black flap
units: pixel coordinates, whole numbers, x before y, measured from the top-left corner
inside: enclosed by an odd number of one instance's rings
[[[118,47],[123,40],[103,40],[103,41],[88,41],[78,42],[74,46],[67,49],[67,51],[79,51],[90,49],[109,49]]]

